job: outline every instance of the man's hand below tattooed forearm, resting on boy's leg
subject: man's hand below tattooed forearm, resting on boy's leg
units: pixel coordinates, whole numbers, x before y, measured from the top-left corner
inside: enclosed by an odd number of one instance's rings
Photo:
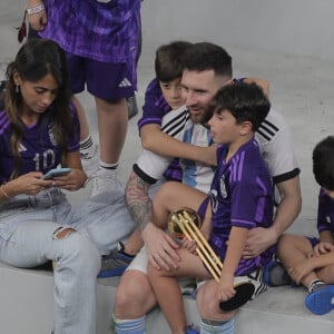
[[[179,256],[175,249],[178,244],[163,229],[148,223],[141,233],[149,262],[156,269],[177,268]]]

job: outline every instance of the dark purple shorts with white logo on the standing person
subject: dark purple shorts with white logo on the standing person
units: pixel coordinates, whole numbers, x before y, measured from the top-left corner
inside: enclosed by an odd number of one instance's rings
[[[134,96],[137,88],[131,82],[128,63],[101,62],[67,53],[69,80],[72,94],[87,90],[97,98],[117,101]]]

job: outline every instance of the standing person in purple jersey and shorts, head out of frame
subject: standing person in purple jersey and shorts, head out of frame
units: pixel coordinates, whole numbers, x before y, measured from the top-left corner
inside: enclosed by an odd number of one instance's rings
[[[95,97],[100,163],[91,195],[120,187],[117,167],[127,134],[126,98],[137,89],[140,0],[27,3],[31,27],[67,52],[72,92],[84,91],[87,85]],[[86,144],[91,145],[90,137]]]

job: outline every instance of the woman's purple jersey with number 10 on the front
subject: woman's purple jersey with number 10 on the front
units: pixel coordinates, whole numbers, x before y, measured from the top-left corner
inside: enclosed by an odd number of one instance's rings
[[[29,171],[42,171],[43,174],[57,167],[61,159],[60,146],[55,143],[55,137],[49,122],[49,108],[31,127],[23,125],[23,138],[20,144],[22,167],[20,175]],[[72,108],[75,131],[69,131],[69,151],[79,150],[80,128],[77,112]],[[10,143],[10,122],[4,110],[0,111],[0,183],[9,180],[14,169],[14,158],[8,143]]]

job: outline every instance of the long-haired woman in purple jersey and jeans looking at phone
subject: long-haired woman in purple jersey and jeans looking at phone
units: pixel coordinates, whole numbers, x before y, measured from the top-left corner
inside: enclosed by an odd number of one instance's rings
[[[129,215],[118,215],[124,194],[112,190],[71,206],[62,191],[85,186],[87,175],[66,55],[56,42],[28,41],[8,66],[6,85],[0,111],[0,261],[22,268],[55,262],[52,333],[94,334],[100,257],[134,227]],[[43,179],[59,165],[70,173]]]

